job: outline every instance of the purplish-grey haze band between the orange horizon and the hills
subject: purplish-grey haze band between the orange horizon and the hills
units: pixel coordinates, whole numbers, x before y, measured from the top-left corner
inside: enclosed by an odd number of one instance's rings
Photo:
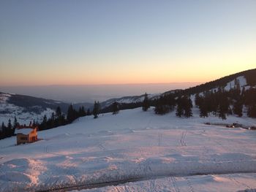
[[[116,85],[41,85],[0,86],[4,93],[36,96],[67,103],[106,101],[122,96],[140,96],[144,93],[163,93],[199,85],[200,82],[138,83]]]

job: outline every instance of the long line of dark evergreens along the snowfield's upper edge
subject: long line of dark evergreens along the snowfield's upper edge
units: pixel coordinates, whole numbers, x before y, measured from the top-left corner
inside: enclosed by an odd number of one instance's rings
[[[167,112],[176,110],[177,117],[189,118],[193,115],[191,95],[195,96],[195,107],[200,111],[200,118],[206,118],[208,115],[215,115],[223,120],[227,118],[227,115],[237,115],[238,117],[241,117],[244,115],[244,109],[246,109],[246,115],[248,117],[256,118],[256,82],[253,74],[255,74],[255,70],[247,72],[246,80],[249,81],[247,84],[251,85],[251,87],[247,89],[245,87],[241,89],[239,80],[235,78],[234,86],[232,87],[230,85],[228,90],[225,89],[224,86],[219,86],[219,88],[212,88],[208,91],[195,93],[195,91],[203,89],[197,89],[197,87],[195,87],[194,89],[189,88],[187,91],[167,92],[154,100],[148,99],[148,94],[145,93],[143,101],[129,104],[119,104],[115,101],[104,109],[101,109],[99,101],[94,101],[94,108],[92,111],[89,109],[85,110],[84,107],[80,107],[77,111],[73,108],[72,104],[70,104],[67,110],[67,116],[61,112],[60,107],[57,107],[56,112],[53,112],[50,118],[47,118],[45,115],[42,123],[33,122],[33,124],[38,126],[39,130],[46,130],[67,125],[72,123],[73,120],[86,115],[94,115],[94,118],[98,118],[99,113],[112,112],[113,115],[116,115],[119,110],[134,109],[137,107],[142,107],[143,111],[147,111],[150,106],[154,106],[154,112],[158,115],[164,115]],[[227,79],[229,80],[230,77]],[[211,84],[207,86],[210,85]],[[15,132],[15,127],[18,125],[19,123],[16,117],[13,123],[9,120],[7,126],[2,123],[0,128],[0,139],[11,137]]]

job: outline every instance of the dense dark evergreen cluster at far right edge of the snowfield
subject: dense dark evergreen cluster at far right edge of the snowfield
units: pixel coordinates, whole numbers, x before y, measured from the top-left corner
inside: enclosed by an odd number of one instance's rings
[[[249,118],[256,118],[256,88],[242,88],[239,80],[235,79],[234,87],[226,91],[218,88],[195,95],[195,105],[200,110],[200,117],[206,118],[212,114],[226,119],[227,115],[243,116],[246,109]]]

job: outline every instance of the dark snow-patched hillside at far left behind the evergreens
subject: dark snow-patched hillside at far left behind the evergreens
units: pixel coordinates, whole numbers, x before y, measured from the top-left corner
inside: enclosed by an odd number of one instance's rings
[[[92,104],[73,104],[75,110],[80,106],[91,108]],[[61,107],[62,112],[67,114],[69,104],[52,99],[0,92],[0,123],[7,124],[9,119],[13,122],[15,117],[19,123],[29,123],[32,120],[40,123],[44,115],[50,118],[57,107]]]

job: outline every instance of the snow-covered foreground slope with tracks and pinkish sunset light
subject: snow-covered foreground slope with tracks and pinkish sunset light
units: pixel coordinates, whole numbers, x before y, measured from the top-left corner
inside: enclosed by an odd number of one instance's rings
[[[254,126],[256,120],[193,113],[187,119],[138,108],[39,131],[43,140],[31,144],[16,146],[15,137],[0,140],[0,191],[100,183],[105,187],[89,191],[256,189],[256,131],[204,124]],[[123,184],[106,186],[119,181]]]

